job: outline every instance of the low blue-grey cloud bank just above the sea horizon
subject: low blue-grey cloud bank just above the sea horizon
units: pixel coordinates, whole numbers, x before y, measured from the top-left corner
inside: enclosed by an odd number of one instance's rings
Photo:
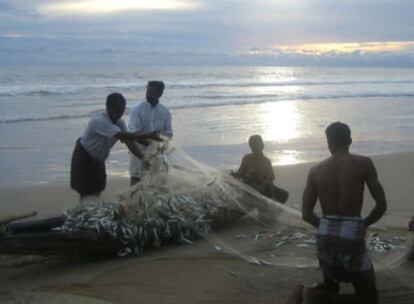
[[[198,46],[183,49],[174,40],[151,37],[0,37],[0,64],[284,65],[414,67],[414,42],[289,45],[274,48]],[[352,46],[352,48],[351,48]],[[397,47],[396,47],[397,46]],[[391,47],[391,49],[389,49]],[[396,47],[396,49],[394,49]]]

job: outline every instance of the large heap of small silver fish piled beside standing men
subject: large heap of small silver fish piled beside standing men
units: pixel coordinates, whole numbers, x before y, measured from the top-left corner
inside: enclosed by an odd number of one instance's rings
[[[84,203],[66,211],[63,231],[91,230],[121,241],[119,256],[142,254],[151,245],[205,238],[234,189],[217,177],[169,172],[168,148],[152,145],[140,183],[120,195],[118,203]],[[177,173],[178,172],[178,173]]]

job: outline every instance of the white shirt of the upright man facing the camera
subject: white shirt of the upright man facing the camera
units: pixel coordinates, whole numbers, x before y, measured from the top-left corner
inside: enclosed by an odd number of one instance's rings
[[[129,114],[128,130],[130,132],[150,133],[159,131],[162,135],[172,138],[172,118],[170,111],[162,104],[155,107],[144,100],[137,103]],[[145,146],[139,145],[145,151]],[[141,177],[142,162],[135,155],[130,154],[129,173],[131,177]]]

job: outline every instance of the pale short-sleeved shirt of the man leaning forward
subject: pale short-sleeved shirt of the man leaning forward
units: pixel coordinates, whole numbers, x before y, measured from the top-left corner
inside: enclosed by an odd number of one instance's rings
[[[105,161],[112,147],[118,141],[115,134],[126,131],[123,119],[115,123],[105,111],[99,112],[89,120],[85,133],[81,137],[81,144],[86,151],[97,160]]]

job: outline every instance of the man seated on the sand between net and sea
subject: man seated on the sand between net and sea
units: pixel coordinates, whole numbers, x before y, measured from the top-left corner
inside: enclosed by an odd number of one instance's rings
[[[252,135],[249,138],[249,146],[252,153],[243,157],[240,168],[231,174],[241,181],[254,188],[261,194],[285,203],[289,193],[273,185],[275,175],[272,163],[263,154],[264,144],[260,135]]]

